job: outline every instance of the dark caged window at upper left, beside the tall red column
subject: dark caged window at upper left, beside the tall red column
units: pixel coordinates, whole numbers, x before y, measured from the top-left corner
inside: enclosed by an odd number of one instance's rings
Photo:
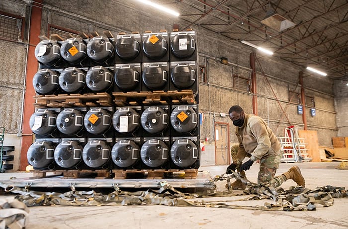
[[[23,18],[0,14],[0,38],[22,41]]]

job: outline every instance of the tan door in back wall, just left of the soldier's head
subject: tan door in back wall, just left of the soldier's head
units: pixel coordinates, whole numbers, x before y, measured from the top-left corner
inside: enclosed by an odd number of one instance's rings
[[[228,123],[215,122],[215,164],[230,164]]]

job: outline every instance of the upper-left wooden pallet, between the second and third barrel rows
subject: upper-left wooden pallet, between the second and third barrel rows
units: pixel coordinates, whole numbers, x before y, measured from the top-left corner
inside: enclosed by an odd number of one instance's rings
[[[34,96],[37,108],[61,108],[61,107],[109,107],[112,106],[111,95],[102,93],[89,94],[61,94]]]

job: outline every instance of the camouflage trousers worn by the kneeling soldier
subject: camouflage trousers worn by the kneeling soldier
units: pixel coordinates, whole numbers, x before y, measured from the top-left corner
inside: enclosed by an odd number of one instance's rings
[[[232,161],[238,165],[237,152],[238,145],[231,147]],[[261,159],[260,168],[258,173],[258,183],[265,186],[273,186],[274,188],[279,187],[286,179],[284,176],[275,176],[277,169],[279,168],[280,159],[282,157],[282,151],[278,154]],[[240,164],[240,163],[239,163]],[[245,176],[244,171],[239,170],[240,165],[237,166],[237,172],[240,172],[242,177]]]

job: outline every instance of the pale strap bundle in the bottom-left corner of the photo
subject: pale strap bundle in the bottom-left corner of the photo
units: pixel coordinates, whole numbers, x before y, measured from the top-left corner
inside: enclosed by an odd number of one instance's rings
[[[29,209],[16,199],[0,199],[0,229],[22,229],[27,224]]]

